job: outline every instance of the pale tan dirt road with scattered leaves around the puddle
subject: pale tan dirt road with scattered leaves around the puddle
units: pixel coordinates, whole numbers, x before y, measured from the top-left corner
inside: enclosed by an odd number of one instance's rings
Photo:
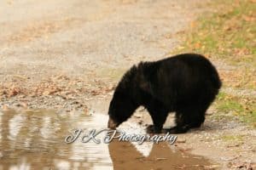
[[[162,59],[170,54],[179,43],[177,34],[207,10],[202,8],[205,3],[199,0],[1,1],[2,109],[107,112],[113,89],[124,71],[141,60]],[[137,114],[133,121],[149,120],[141,112]],[[241,161],[238,167],[250,164],[255,157],[255,135],[247,134],[254,131],[245,131],[247,128],[236,122],[209,120],[206,124],[202,133],[181,135],[177,146],[207,156],[221,167],[234,160]],[[219,129],[224,131],[218,133]],[[226,144],[221,136],[241,131],[247,144],[239,141],[241,147],[234,146],[237,150],[223,152]]]

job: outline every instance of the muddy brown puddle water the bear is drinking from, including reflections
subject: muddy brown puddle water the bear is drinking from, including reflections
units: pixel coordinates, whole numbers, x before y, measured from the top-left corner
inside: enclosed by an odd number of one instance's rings
[[[1,169],[204,169],[210,163],[174,149],[173,145],[149,142],[141,145],[113,141],[110,144],[65,143],[77,128],[84,132],[102,129],[108,117],[54,111],[0,111]],[[144,133],[136,124],[125,131]],[[103,133],[101,135],[104,135]]]

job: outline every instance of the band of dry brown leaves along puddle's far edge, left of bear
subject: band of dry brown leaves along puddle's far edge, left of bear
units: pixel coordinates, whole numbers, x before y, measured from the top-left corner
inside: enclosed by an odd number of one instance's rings
[[[78,96],[97,96],[113,91],[113,84],[101,80],[85,82],[81,78],[71,78],[63,75],[50,77],[42,82],[9,82],[0,87],[1,97],[11,98],[23,94],[25,96],[58,95],[63,99],[75,99]]]

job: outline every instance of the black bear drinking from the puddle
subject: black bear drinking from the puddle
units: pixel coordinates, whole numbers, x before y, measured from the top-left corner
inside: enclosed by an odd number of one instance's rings
[[[154,125],[148,133],[162,133],[169,112],[176,112],[170,133],[186,133],[205,121],[221,81],[211,62],[201,54],[178,54],[133,65],[125,73],[110,102],[108,127],[118,127],[143,105]],[[166,132],[166,131],[165,131]]]

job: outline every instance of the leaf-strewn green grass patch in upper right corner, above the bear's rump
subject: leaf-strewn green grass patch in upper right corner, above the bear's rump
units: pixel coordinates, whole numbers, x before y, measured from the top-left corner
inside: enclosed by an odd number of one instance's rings
[[[256,66],[256,3],[217,1],[213,14],[203,14],[185,37],[182,50],[225,59],[232,65]]]

